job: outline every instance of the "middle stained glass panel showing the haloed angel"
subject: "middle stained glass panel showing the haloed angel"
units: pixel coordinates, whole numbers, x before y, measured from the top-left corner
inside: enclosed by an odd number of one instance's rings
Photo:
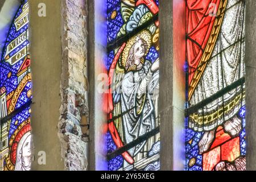
[[[108,0],[109,170],[159,170],[158,0]]]

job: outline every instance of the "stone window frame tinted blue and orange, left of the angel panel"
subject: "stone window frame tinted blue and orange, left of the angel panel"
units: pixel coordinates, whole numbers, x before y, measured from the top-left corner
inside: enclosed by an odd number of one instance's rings
[[[88,80],[89,90],[89,160],[90,171],[108,171],[106,138],[108,116],[97,104],[102,104],[104,95],[97,92],[100,84],[98,75],[107,73],[99,65],[106,59],[106,0],[93,0],[88,3]],[[105,6],[104,6],[105,5]],[[100,35],[100,36],[99,36]],[[102,147],[105,146],[105,147]]]

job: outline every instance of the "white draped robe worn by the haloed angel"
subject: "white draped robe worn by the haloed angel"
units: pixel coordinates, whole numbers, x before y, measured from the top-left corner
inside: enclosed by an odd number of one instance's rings
[[[150,66],[151,63],[146,61],[141,70],[126,73],[122,80],[121,110],[122,113],[125,113],[122,115],[122,138],[125,143],[132,142],[159,125],[156,123],[158,113],[155,113],[155,107],[157,106],[154,105],[157,103],[158,97],[155,91],[159,87],[159,71],[152,73]],[[142,92],[142,90],[146,90],[146,92]],[[138,98],[140,94],[142,97]],[[148,142],[149,144],[146,144]],[[135,158],[139,152],[148,152],[154,142],[144,141],[128,152]]]

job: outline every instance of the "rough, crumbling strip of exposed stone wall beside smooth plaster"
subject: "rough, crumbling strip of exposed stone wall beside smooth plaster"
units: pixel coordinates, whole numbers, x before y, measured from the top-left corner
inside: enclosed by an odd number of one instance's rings
[[[66,170],[83,171],[89,142],[86,0],[61,1],[61,14],[61,156]]]

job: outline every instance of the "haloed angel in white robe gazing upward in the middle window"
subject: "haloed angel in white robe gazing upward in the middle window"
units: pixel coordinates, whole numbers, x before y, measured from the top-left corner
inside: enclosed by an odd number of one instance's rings
[[[159,60],[151,63],[144,60],[151,47],[151,32],[143,30],[130,38],[123,48],[121,59],[115,67],[113,117],[122,143],[130,143],[159,125],[157,97],[159,88]],[[138,143],[128,150],[128,155],[137,162],[147,156],[156,142],[156,137]],[[126,158],[125,158],[126,159]],[[125,160],[123,167],[131,162]]]

